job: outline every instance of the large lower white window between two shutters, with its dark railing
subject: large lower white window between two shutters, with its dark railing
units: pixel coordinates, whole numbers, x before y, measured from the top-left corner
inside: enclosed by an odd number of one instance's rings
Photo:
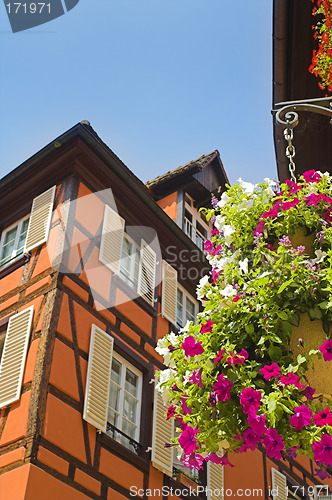
[[[142,374],[128,361],[113,353],[107,434],[134,450],[135,443],[131,439],[139,441],[141,398]]]

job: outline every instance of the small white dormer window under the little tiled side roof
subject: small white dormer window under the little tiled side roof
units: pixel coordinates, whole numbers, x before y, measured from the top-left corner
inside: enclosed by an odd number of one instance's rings
[[[209,224],[202,212],[194,208],[194,200],[185,194],[184,232],[200,250],[204,249],[204,241],[209,235]]]

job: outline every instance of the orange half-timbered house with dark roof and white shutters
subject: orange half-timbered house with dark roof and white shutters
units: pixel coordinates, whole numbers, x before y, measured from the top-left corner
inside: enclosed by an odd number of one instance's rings
[[[155,346],[195,321],[199,208],[226,182],[213,151],[144,185],[88,122],[2,179],[2,500],[317,497],[303,457],[196,473],[165,447]]]

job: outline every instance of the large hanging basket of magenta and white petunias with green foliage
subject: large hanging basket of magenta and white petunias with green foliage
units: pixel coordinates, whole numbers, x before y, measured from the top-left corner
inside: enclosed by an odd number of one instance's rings
[[[231,465],[263,445],[332,467],[332,179],[239,181],[213,201],[197,324],[159,340],[157,388],[182,461]],[[318,328],[316,328],[318,327]],[[316,386],[315,386],[316,385]],[[222,451],[224,451],[223,456]]]

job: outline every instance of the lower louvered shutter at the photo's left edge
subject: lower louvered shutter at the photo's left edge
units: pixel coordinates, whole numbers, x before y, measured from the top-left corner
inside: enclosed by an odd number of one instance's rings
[[[0,408],[20,398],[33,306],[9,318],[0,363]]]

